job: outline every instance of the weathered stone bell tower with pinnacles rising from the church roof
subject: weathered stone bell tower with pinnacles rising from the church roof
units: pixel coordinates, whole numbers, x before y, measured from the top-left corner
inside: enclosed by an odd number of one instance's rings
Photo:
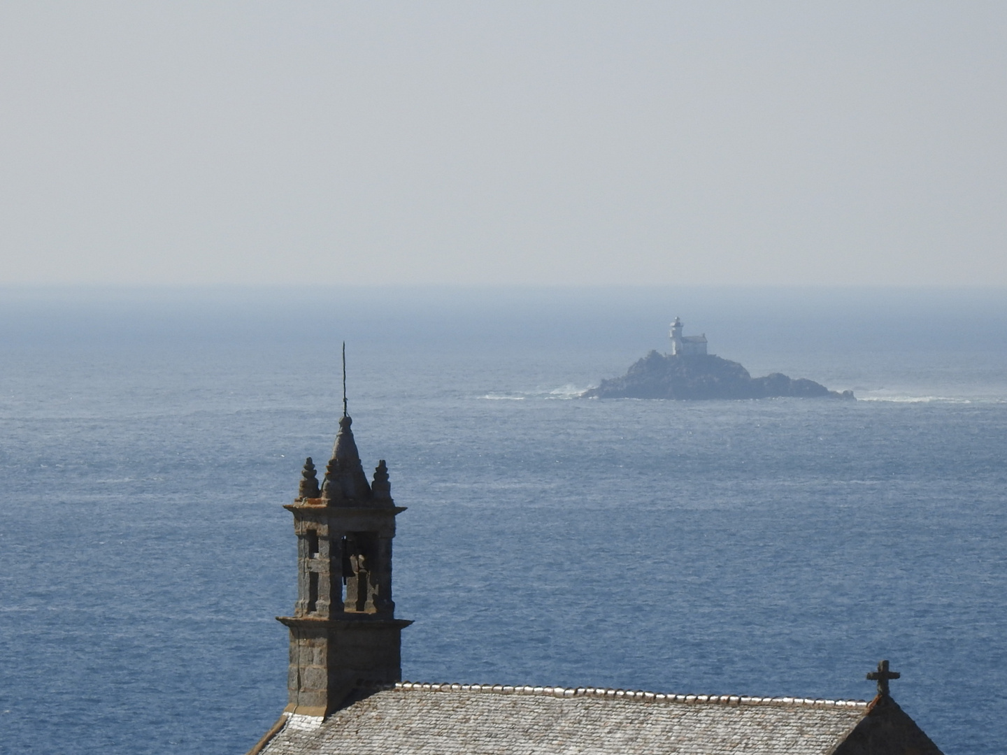
[[[284,508],[297,536],[297,602],[290,628],[288,713],[326,716],[357,688],[399,682],[401,634],[395,618],[392,539],[406,509],[392,500],[388,467],[374,481],[361,464],[352,420],[339,420],[321,486],[309,457],[298,496]]]

